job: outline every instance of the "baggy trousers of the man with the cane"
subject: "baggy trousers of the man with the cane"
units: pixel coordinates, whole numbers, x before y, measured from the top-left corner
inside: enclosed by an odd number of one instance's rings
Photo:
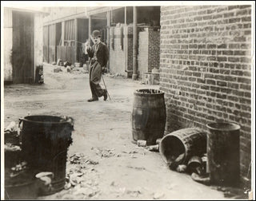
[[[102,97],[105,90],[102,89],[101,85],[99,85],[102,79],[102,66],[98,63],[98,61],[94,61],[90,63],[89,68],[89,77],[90,77],[90,91],[92,97],[94,99],[98,99],[98,97]]]

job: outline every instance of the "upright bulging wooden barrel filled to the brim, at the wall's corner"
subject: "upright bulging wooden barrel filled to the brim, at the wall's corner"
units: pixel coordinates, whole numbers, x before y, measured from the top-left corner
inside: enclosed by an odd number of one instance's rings
[[[138,89],[134,92],[132,111],[133,139],[156,144],[162,138],[166,126],[164,93],[156,89]]]

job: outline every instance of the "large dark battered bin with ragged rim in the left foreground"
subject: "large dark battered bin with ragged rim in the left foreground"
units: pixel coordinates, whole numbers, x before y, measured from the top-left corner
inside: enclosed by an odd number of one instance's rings
[[[52,190],[61,191],[66,182],[66,154],[73,122],[58,116],[26,116],[22,123],[22,155],[37,172],[52,171]]]

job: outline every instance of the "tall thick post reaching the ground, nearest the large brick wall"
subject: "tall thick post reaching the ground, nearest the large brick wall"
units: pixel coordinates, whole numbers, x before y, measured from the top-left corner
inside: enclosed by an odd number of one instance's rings
[[[134,33],[133,33],[133,76],[132,79],[136,80],[137,74],[137,52],[138,52],[138,36],[137,36],[137,7],[134,6]]]

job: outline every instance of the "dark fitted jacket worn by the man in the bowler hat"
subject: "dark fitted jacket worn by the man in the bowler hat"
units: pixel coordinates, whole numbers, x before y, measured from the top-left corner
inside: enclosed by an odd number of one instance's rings
[[[90,59],[92,57],[94,57],[94,49],[95,49],[95,45],[93,45],[92,47],[89,47],[87,49],[87,53],[90,57]],[[96,53],[96,57],[98,60],[98,63],[103,67],[106,67],[107,61],[109,60],[109,49],[107,48],[107,46],[100,42],[99,46],[98,46],[98,51]]]

